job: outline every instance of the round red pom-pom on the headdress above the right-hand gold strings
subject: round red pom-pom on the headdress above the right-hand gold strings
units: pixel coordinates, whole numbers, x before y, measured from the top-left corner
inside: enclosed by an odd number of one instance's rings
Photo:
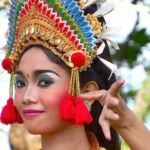
[[[85,63],[85,55],[81,51],[74,52],[70,59],[75,67],[81,67]]]

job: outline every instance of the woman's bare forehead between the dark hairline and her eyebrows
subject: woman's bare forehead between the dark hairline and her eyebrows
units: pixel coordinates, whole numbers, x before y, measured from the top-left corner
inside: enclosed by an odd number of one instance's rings
[[[30,48],[24,53],[16,68],[16,72],[18,71],[28,76],[29,74],[37,75],[44,72],[53,73],[57,76],[67,73],[60,65],[48,59],[42,49],[36,47]]]

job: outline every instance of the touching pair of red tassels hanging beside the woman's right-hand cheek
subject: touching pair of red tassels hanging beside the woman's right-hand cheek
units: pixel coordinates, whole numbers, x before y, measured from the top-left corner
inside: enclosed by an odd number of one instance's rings
[[[89,124],[93,118],[80,97],[74,97],[70,93],[66,95],[60,106],[60,115],[63,120],[75,125]]]

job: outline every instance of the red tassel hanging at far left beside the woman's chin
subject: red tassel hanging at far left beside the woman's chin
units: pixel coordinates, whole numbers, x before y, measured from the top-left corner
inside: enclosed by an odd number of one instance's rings
[[[7,104],[3,107],[0,119],[1,122],[6,125],[13,124],[15,122],[22,123],[22,119],[16,110],[11,97],[7,100]]]

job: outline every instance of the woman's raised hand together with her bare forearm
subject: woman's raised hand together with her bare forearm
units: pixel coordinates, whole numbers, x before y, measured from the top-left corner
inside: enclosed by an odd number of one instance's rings
[[[149,150],[150,131],[118,94],[123,84],[124,81],[118,80],[108,91],[92,91],[81,94],[81,97],[89,101],[98,100],[103,106],[99,123],[108,140],[111,140],[110,127],[113,127],[132,150]]]

